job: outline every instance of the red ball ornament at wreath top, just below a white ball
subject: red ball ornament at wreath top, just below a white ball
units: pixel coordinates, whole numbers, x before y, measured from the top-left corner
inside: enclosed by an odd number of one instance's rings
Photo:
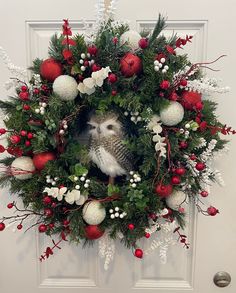
[[[139,74],[142,70],[142,61],[138,56],[127,53],[120,60],[120,70],[125,77],[131,77],[135,74]]]

